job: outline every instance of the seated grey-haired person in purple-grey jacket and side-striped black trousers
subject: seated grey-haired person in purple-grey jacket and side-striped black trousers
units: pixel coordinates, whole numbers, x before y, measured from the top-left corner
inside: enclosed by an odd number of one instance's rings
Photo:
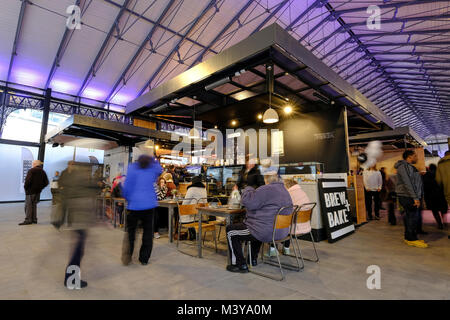
[[[251,242],[251,263],[256,265],[258,252],[262,242],[272,241],[273,223],[278,210],[292,206],[291,196],[278,177],[276,168],[270,167],[263,171],[265,185],[257,188],[246,187],[242,191],[241,203],[247,209],[244,223],[227,226],[227,240],[231,255],[231,264],[227,266],[230,272],[248,272],[242,242]],[[282,214],[290,214],[286,210]],[[275,240],[286,237],[289,228],[279,229],[275,233]]]

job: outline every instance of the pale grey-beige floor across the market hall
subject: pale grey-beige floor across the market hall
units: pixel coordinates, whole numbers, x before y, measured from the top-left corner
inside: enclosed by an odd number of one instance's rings
[[[286,271],[282,282],[227,272],[225,253],[206,249],[204,258],[193,258],[164,236],[155,240],[147,266],[125,267],[124,232],[105,224],[92,229],[87,242],[82,278],[88,288],[67,290],[62,282],[70,233],[49,224],[49,202],[38,210],[39,224],[18,226],[23,204],[0,205],[0,299],[450,299],[448,230],[437,230],[429,212],[424,220],[430,233],[423,237],[428,249],[406,246],[403,226],[389,226],[383,216],[337,243],[319,243],[320,262],[306,261],[303,272]],[[304,256],[310,255],[310,243],[302,244]],[[381,269],[380,290],[367,289],[370,265]]]

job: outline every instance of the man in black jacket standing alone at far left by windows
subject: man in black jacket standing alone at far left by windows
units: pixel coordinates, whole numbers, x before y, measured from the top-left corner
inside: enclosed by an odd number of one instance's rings
[[[40,160],[34,160],[25,178],[25,221],[19,226],[37,223],[37,203],[42,190],[48,186],[47,174]]]

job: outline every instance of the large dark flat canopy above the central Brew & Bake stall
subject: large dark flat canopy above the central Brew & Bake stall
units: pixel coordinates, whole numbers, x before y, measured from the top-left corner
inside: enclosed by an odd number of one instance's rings
[[[254,112],[267,108],[267,98],[263,97],[258,105],[255,97],[267,93],[265,64],[272,62],[275,105],[278,98],[280,106],[287,101],[309,107],[347,106],[372,123],[383,122],[394,127],[389,116],[277,24],[136,98],[128,103],[126,113],[189,115],[195,106],[199,118],[210,125],[228,120],[226,115],[233,116],[239,110],[254,120]],[[230,109],[222,109],[228,106]],[[203,113],[207,116],[202,117]]]

